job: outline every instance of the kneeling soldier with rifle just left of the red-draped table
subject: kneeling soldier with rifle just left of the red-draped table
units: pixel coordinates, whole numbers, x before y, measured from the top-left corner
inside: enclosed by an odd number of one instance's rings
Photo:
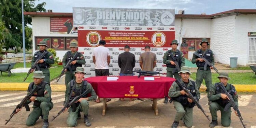
[[[97,95],[91,86],[90,83],[87,81],[83,81],[84,77],[84,68],[77,67],[75,70],[75,80],[71,80],[67,86],[67,96],[66,99],[70,100],[76,96],[81,95],[85,90],[90,90],[90,97],[84,96],[80,98],[77,103],[71,106],[68,110],[69,115],[67,119],[67,124],[69,127],[75,127],[77,125],[77,119],[81,118],[80,112],[84,112],[84,123],[85,126],[91,126],[90,120],[88,118],[88,110],[89,110],[89,102],[90,100],[96,100]],[[71,94],[72,92],[72,94]],[[67,101],[66,101],[67,102]],[[75,108],[73,108],[75,107]],[[67,111],[67,108],[66,110]]]

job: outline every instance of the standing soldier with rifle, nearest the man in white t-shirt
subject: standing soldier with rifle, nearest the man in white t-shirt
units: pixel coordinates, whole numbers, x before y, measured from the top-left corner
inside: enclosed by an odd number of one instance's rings
[[[74,57],[74,55],[77,53],[77,51],[76,51],[76,48],[78,47],[77,46],[77,43],[76,42],[71,42],[70,43],[70,49],[71,49],[71,51],[68,51],[65,55],[64,55],[64,57],[63,57],[63,59],[62,59],[62,66],[63,67],[65,67],[66,65],[67,65],[67,62],[69,61],[69,60],[71,60],[73,57]],[[77,56],[76,58],[75,58],[75,60],[73,60],[72,62],[71,62],[71,64],[70,64],[70,66],[69,66],[69,68],[68,69],[65,69],[65,85],[66,85],[66,89],[67,89],[67,86],[68,86],[68,83],[72,80],[72,79],[75,79],[75,75],[74,75],[74,71],[75,71],[75,69],[77,68],[77,67],[82,67],[82,65],[84,65],[85,64],[85,59],[84,59],[84,56],[83,56],[83,54],[81,54],[81,53],[77,53],[77,54],[79,54],[79,56]],[[72,70],[72,71],[70,71],[70,70]],[[65,91],[65,96],[67,95],[67,90]],[[66,101],[66,99],[65,99],[65,101]],[[65,105],[65,101],[64,101],[64,103],[63,103],[63,105]]]

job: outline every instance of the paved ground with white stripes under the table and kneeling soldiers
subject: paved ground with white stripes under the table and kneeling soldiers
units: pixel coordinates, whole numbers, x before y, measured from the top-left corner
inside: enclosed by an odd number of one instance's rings
[[[11,121],[4,126],[5,119],[9,118],[9,115],[15,108],[15,106],[22,100],[25,91],[0,91],[0,127],[10,128],[10,127],[27,127],[25,125],[27,116],[30,112],[26,112],[23,109],[20,113],[16,114]],[[206,111],[207,115],[210,115],[208,105],[208,99],[205,94],[201,94],[200,103],[203,109]],[[52,99],[54,102],[54,108],[50,111],[49,119],[55,116],[58,111],[62,108],[62,101],[64,100],[64,92],[53,92]],[[152,101],[147,99],[145,101],[135,100],[132,102],[119,101],[118,99],[112,99],[108,102],[108,110],[106,115],[102,116],[102,103],[95,103],[90,101],[89,118],[91,120],[91,128],[170,128],[174,119],[175,109],[173,104],[163,104],[163,99],[158,99],[158,111],[159,116],[155,116],[151,104]],[[243,122],[246,124],[247,128],[255,128],[255,104],[256,104],[256,94],[242,94],[239,95],[239,108],[243,116]],[[32,108],[31,108],[32,109]],[[68,113],[62,113],[53,122],[50,122],[51,128],[66,128],[66,119]],[[83,115],[82,115],[83,116]],[[218,112],[218,122],[221,124],[220,112]],[[241,128],[241,123],[238,117],[232,112],[231,114],[231,127]],[[85,125],[83,120],[78,120],[77,128],[84,128]],[[201,113],[201,111],[195,107],[194,108],[194,127],[195,128],[207,128],[209,126],[209,121]],[[42,127],[43,120],[39,119],[35,126]],[[180,121],[179,126],[184,126],[182,121]],[[230,128],[231,128],[230,127]],[[222,128],[218,126],[216,128]]]

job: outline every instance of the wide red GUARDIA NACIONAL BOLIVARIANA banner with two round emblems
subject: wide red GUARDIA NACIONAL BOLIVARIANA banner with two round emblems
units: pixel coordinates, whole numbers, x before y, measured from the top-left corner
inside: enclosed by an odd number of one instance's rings
[[[79,47],[96,47],[105,40],[107,47],[170,47],[175,31],[104,31],[79,30]]]

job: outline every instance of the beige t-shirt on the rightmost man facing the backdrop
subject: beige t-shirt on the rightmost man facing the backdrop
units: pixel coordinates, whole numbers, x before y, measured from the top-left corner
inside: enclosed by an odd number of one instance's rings
[[[143,71],[154,71],[154,61],[156,61],[155,53],[144,52],[140,55],[140,62],[142,62]]]

